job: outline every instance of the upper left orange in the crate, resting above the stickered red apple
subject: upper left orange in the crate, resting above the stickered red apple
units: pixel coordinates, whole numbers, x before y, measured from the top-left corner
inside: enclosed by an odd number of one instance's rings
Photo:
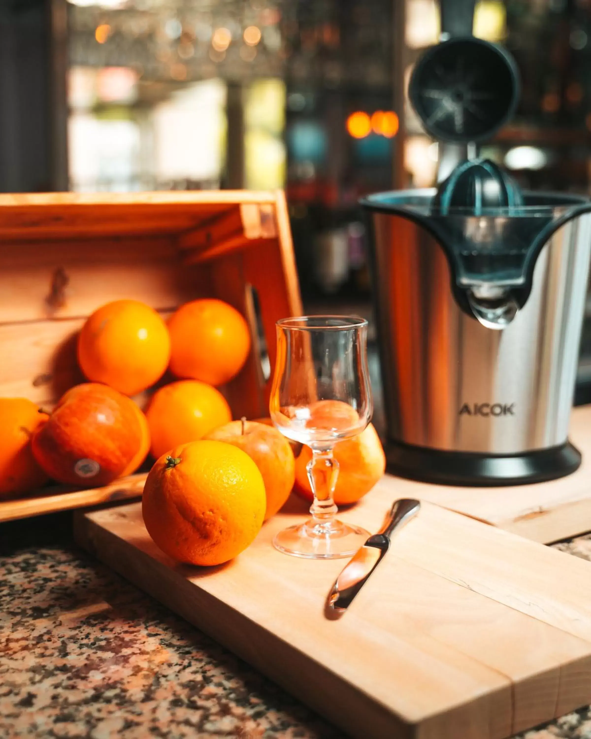
[[[136,395],[160,380],[170,350],[165,322],[137,300],[103,305],[78,336],[78,364],[84,375],[123,395]]]

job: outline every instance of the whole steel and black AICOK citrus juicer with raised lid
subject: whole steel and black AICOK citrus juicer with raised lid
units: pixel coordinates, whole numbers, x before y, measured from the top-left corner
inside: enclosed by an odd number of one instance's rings
[[[409,96],[443,157],[462,147],[466,156],[437,188],[362,201],[373,232],[386,454],[392,471],[440,483],[550,480],[581,463],[567,435],[591,204],[522,192],[476,156],[513,112],[516,68],[470,35],[474,1],[442,10],[448,40],[418,61]],[[452,35],[462,23],[465,33]]]

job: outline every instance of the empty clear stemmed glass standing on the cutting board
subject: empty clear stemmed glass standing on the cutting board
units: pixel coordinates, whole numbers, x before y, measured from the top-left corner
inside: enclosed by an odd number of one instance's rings
[[[279,551],[312,559],[351,556],[369,534],[335,516],[335,443],[363,431],[372,418],[367,321],[358,316],[301,316],[277,321],[277,358],[270,398],[276,428],[310,446],[312,518],[280,531]]]

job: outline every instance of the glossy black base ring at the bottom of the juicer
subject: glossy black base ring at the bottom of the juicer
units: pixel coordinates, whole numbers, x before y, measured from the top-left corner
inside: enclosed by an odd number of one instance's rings
[[[426,446],[389,441],[388,471],[410,480],[440,485],[496,487],[527,485],[572,474],[581,464],[581,452],[567,441],[561,446],[523,454],[443,452]]]

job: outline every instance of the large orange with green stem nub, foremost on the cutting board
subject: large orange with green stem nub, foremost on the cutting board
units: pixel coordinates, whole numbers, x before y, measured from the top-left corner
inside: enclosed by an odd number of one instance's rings
[[[154,464],[143,491],[148,534],[165,554],[191,565],[221,565],[245,550],[262,526],[259,468],[222,441],[194,441]]]

